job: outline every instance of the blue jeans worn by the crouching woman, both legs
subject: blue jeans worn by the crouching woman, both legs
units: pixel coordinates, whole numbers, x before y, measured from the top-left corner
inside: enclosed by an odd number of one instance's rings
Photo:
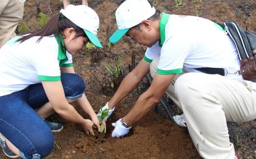
[[[80,76],[62,73],[61,82],[67,100],[84,94],[85,83]],[[48,101],[41,83],[0,97],[0,132],[23,158],[43,158],[53,149],[52,131],[34,111]]]

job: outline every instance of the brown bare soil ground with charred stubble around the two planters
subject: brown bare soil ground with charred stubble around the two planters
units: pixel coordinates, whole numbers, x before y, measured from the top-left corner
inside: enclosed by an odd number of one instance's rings
[[[124,1],[124,0],[123,0]],[[115,69],[118,60],[121,61],[120,79],[142,59],[145,47],[132,44],[122,38],[116,44],[108,45],[108,38],[117,29],[114,11],[123,1],[95,0],[88,1],[100,18],[98,32],[103,49],[85,49],[74,57],[74,67],[87,85],[85,94],[95,111],[103,107],[113,96],[116,87],[111,81],[110,72],[104,67]],[[200,16],[215,22],[236,21],[244,29],[256,31],[256,1],[249,0],[154,0],[156,8],[169,14]],[[71,0],[72,4],[80,1]],[[24,22],[32,31],[38,29],[38,14],[52,17],[61,8],[60,0],[27,0],[25,2]],[[17,32],[21,32],[18,27]],[[90,57],[89,57],[90,55]],[[118,82],[117,82],[118,84]],[[125,116],[133,107],[136,99],[149,86],[145,77],[139,86],[117,105],[114,113],[107,121],[107,133],[102,137],[86,135],[78,124],[64,120],[57,114],[52,118],[64,125],[64,130],[54,134],[53,151],[46,158],[201,158],[190,138],[188,129],[179,127],[171,121],[171,115],[181,114],[177,106],[165,95],[162,102],[149,112],[142,120],[134,124],[129,134],[123,138],[111,138],[112,122]],[[115,85],[114,85],[115,86]],[[76,110],[88,118],[77,104]],[[230,142],[234,143],[239,158],[256,158],[256,121],[246,123],[228,122]],[[0,151],[0,158],[7,158]]]

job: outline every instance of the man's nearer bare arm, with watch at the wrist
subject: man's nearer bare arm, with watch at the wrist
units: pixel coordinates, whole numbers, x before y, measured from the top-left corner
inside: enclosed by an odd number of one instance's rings
[[[123,121],[131,126],[152,110],[165,94],[175,75],[156,73],[152,85],[138,98],[133,109],[123,118]]]

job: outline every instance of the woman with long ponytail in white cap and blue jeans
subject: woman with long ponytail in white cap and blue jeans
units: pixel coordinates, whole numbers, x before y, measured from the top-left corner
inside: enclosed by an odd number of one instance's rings
[[[75,74],[72,56],[88,42],[102,47],[99,18],[90,7],[68,5],[38,31],[10,39],[0,49],[1,146],[10,157],[43,158],[54,136],[42,120],[56,112],[81,124],[87,134],[100,130],[97,114],[88,102],[83,79]],[[72,101],[90,116],[84,119]],[[34,111],[37,110],[37,111]],[[11,151],[10,151],[11,150]]]

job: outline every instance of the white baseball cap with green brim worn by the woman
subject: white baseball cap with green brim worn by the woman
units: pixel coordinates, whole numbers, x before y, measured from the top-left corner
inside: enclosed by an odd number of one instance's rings
[[[92,44],[102,48],[97,37],[100,21],[93,9],[85,5],[68,5],[65,9],[61,9],[60,13],[82,28]]]

